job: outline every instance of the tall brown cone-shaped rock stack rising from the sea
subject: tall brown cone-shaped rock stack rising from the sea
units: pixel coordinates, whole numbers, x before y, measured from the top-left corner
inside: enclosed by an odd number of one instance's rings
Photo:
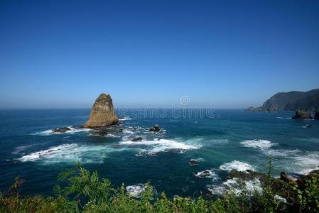
[[[112,98],[109,94],[102,93],[95,100],[90,119],[84,124],[86,128],[103,127],[118,124],[119,119],[114,113]]]

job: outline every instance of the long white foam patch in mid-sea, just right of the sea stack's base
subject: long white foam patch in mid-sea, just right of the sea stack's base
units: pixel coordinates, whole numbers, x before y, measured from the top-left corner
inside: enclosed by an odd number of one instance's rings
[[[158,141],[121,141],[119,142],[119,144],[126,146],[150,146],[150,148],[146,149],[148,151],[148,154],[150,155],[170,150],[177,150],[183,152],[188,151],[190,149],[200,148],[200,146],[198,145],[195,146],[168,139],[160,139]]]

